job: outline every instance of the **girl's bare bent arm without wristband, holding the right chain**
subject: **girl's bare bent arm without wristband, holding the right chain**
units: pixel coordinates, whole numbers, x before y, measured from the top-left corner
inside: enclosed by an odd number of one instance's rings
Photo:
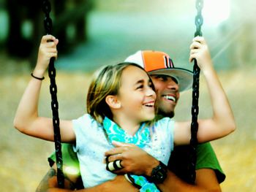
[[[208,92],[211,97],[213,115],[206,120],[198,120],[197,139],[198,142],[208,142],[214,139],[225,137],[235,131],[236,123],[233,117],[229,101],[222,88],[219,78],[211,61],[208,45],[203,37],[195,37],[190,46],[189,61],[195,58],[206,78]],[[174,140],[176,145],[189,143],[190,134],[189,122],[175,123]]]

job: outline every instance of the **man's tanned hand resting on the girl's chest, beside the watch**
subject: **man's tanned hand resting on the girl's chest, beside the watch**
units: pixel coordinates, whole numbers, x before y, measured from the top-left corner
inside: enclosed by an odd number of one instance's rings
[[[121,160],[122,169],[116,174],[132,173],[136,175],[151,176],[152,169],[159,165],[159,161],[140,147],[133,144],[113,142],[115,148],[105,152],[108,161]]]

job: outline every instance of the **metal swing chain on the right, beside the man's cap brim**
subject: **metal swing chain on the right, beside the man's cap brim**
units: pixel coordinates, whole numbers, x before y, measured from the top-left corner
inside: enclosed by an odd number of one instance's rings
[[[197,15],[195,16],[195,37],[202,36],[201,26],[203,25],[203,16],[202,16],[202,9],[203,9],[203,0],[196,1],[196,9]],[[199,77],[200,77],[200,68],[197,66],[197,61],[194,59],[194,67],[193,67],[193,84],[192,84],[192,123],[191,123],[191,139],[190,139],[190,164],[189,164],[189,180],[191,183],[195,183],[195,165],[197,161],[197,130],[198,130],[198,123],[197,123],[197,115],[199,113],[198,107],[198,98],[199,98]]]

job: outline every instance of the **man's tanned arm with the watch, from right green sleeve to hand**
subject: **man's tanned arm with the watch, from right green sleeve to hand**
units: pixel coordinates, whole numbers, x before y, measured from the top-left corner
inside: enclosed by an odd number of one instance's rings
[[[152,169],[159,164],[157,159],[141,150],[140,147],[120,142],[113,142],[115,148],[105,153],[109,161],[121,160],[123,169],[117,174],[132,173],[151,176]],[[156,162],[157,165],[156,165]],[[213,169],[198,169],[195,185],[184,182],[173,172],[167,171],[162,184],[157,185],[161,191],[221,191]]]

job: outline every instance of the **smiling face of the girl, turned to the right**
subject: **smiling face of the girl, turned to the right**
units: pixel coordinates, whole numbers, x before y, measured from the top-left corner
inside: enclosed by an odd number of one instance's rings
[[[137,66],[127,66],[121,74],[121,87],[118,91],[120,112],[136,122],[153,120],[156,93],[148,74]]]

